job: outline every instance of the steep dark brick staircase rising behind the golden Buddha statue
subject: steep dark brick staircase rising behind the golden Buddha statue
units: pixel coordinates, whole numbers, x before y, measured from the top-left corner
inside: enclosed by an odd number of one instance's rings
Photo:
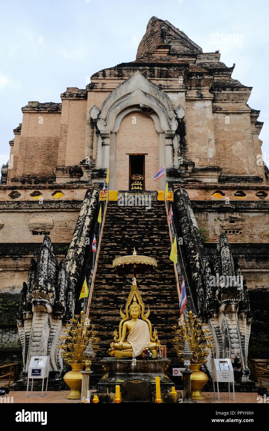
[[[121,319],[120,307],[125,306],[132,284],[132,275],[114,272],[112,260],[133,254],[134,247],[137,254],[154,257],[158,262],[158,272],[138,275],[137,284],[144,303],[149,306],[149,319],[157,329],[161,343],[167,346],[167,356],[174,366],[178,366],[172,338],[180,311],[174,267],[169,259],[171,244],[163,201],[152,202],[151,209],[108,202],[90,309],[90,319],[101,338],[97,359],[108,356],[113,332],[116,328],[118,331]],[[101,373],[96,366],[92,368]]]

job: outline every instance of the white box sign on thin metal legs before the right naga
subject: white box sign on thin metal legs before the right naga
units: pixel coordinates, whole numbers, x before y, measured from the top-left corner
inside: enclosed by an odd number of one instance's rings
[[[215,382],[227,382],[228,383],[228,392],[230,398],[230,383],[233,384],[233,394],[234,394],[234,370],[233,365],[231,363],[231,359],[211,359],[212,364],[212,381],[213,381],[213,390],[214,390],[214,398],[215,398]],[[218,400],[219,400],[219,390],[218,390]],[[234,397],[235,400],[235,397]]]

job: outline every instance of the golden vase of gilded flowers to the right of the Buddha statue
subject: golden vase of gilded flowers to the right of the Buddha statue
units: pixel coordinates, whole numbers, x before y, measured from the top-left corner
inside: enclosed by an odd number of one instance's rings
[[[213,348],[213,338],[207,335],[210,332],[206,329],[200,319],[191,311],[186,316],[186,321],[180,321],[179,328],[175,328],[173,338],[177,356],[182,360],[189,359],[190,370],[193,371],[191,380],[191,397],[193,400],[206,400],[201,389],[208,381],[206,373],[200,370],[201,365],[207,362],[210,349]],[[187,350],[186,353],[186,344]]]

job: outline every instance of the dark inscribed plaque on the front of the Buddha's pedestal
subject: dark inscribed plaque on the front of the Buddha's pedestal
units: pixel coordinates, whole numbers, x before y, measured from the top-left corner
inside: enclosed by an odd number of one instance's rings
[[[122,385],[122,401],[151,401],[150,383],[144,380],[129,380]]]

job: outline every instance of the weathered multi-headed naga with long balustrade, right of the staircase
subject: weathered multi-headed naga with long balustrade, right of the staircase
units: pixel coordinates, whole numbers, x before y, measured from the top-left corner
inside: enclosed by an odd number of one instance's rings
[[[241,364],[242,381],[247,381],[251,315],[239,261],[232,256],[226,234],[219,236],[213,256],[206,253],[187,191],[180,188],[174,193],[174,205],[193,298],[187,306],[194,307],[210,329],[212,356]],[[210,357],[207,368],[211,373]]]

